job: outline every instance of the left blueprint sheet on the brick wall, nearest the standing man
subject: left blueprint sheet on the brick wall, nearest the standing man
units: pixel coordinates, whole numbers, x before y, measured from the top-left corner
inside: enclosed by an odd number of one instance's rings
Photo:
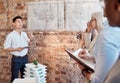
[[[61,1],[28,4],[28,29],[57,30],[64,28],[64,4]]]

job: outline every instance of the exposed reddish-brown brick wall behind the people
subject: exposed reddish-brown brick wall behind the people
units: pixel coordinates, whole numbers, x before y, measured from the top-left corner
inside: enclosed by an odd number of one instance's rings
[[[30,1],[39,0],[0,0],[0,78],[10,79],[11,75],[11,56],[3,50],[5,36],[12,29],[11,19],[21,15],[26,29],[25,3]],[[80,47],[80,41],[75,38],[76,32],[33,33],[35,39],[29,48],[29,62],[37,58],[39,63],[47,66],[47,83],[86,83],[79,67],[65,52],[65,48],[74,50]]]

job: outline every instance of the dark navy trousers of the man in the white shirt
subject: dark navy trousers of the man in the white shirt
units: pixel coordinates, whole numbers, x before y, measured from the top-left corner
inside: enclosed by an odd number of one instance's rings
[[[15,78],[18,78],[19,76],[19,71],[20,71],[20,75],[21,78],[24,78],[24,68],[25,68],[25,64],[28,63],[28,57],[27,55],[24,57],[16,57],[13,55],[12,57],[12,62],[11,62],[11,82],[13,82],[13,80]]]

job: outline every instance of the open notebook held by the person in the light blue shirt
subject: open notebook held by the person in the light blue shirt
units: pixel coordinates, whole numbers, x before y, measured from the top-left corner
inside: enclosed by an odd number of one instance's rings
[[[74,52],[71,52],[70,50],[66,49],[65,51],[69,54],[69,56],[71,58],[73,58],[75,61],[77,61],[78,63],[80,63],[81,65],[83,65],[86,69],[88,69],[89,71],[92,71],[94,72],[94,69],[95,69],[95,64],[89,60],[86,60],[86,59],[83,59],[83,58],[80,58],[78,56],[79,52],[81,51],[82,49],[79,48],[78,50],[74,51]]]

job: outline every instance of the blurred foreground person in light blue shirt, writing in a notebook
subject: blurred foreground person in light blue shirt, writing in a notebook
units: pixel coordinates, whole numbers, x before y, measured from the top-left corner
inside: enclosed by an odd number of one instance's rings
[[[120,0],[104,0],[104,13],[108,25],[100,32],[94,47],[94,54],[80,57],[95,60],[95,72],[82,68],[84,76],[91,83],[104,83],[105,77],[120,55]],[[117,82],[120,83],[120,82]]]

